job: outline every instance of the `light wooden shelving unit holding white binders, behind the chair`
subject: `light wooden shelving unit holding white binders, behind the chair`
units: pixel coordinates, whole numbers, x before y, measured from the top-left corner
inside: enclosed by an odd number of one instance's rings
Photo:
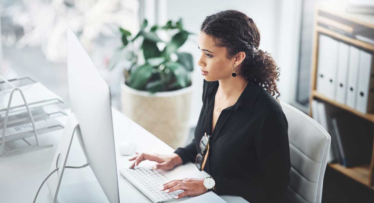
[[[329,1],[319,4],[315,12],[315,24],[314,24],[314,33],[313,33],[313,46],[312,46],[312,70],[311,70],[311,94],[310,94],[310,103],[313,99],[319,99],[326,103],[331,104],[332,106],[338,107],[342,110],[352,113],[353,115],[364,118],[373,123],[374,126],[374,113],[361,113],[351,107],[342,104],[336,100],[329,99],[324,94],[316,91],[316,74],[317,74],[317,65],[318,65],[318,40],[319,34],[325,34],[336,40],[342,41],[344,43],[359,47],[360,49],[370,51],[374,53],[374,45],[366,43],[364,41],[357,40],[355,38],[343,35],[337,31],[325,28],[324,26],[318,25],[318,21],[321,19],[328,19],[333,27],[348,25],[353,28],[353,32],[356,30],[369,30],[374,33],[374,16],[373,15],[359,15],[346,13],[344,9],[344,1]],[[331,21],[330,21],[331,19]],[[334,23],[336,23],[334,25]],[[337,25],[339,24],[339,25]],[[312,105],[310,105],[310,116],[312,117]],[[352,168],[346,168],[338,163],[329,163],[329,167],[341,172],[342,174],[355,179],[361,184],[373,189],[373,171],[374,171],[374,143],[373,143],[373,154],[371,154],[371,162],[368,165],[356,166]]]

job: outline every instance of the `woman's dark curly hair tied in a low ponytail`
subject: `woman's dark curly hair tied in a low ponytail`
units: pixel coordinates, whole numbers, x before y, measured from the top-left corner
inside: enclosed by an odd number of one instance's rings
[[[276,100],[281,95],[276,81],[279,81],[280,67],[267,51],[258,49],[260,31],[251,18],[237,10],[224,10],[207,16],[200,31],[210,35],[216,46],[226,47],[227,59],[243,51],[245,59],[241,66],[241,75],[248,81],[255,81],[266,89]]]

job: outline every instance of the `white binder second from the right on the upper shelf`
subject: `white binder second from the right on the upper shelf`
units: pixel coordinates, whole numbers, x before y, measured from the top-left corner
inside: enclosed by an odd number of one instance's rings
[[[349,47],[348,85],[347,85],[347,106],[356,108],[358,68],[360,62],[360,50],[356,47]]]

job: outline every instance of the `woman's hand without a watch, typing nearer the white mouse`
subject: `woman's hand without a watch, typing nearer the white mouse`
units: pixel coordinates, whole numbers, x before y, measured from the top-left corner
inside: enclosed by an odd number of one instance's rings
[[[153,169],[164,169],[164,170],[171,170],[175,166],[182,163],[181,157],[176,154],[146,154],[146,153],[138,153],[135,152],[137,156],[132,157],[129,161],[135,160],[134,163],[130,166],[130,168],[134,168],[135,166],[139,165],[140,162],[144,160],[150,160],[157,162],[156,165],[153,165]]]

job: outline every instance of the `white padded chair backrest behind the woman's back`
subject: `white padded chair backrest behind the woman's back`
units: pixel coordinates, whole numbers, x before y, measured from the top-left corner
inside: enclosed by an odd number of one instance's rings
[[[280,102],[288,121],[291,181],[286,202],[320,203],[331,137],[310,116]]]

